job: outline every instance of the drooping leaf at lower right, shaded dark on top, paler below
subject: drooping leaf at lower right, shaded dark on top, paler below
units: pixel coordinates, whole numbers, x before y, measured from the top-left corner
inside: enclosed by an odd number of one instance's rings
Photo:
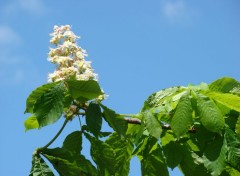
[[[213,176],[222,173],[226,166],[227,145],[223,137],[217,136],[209,143],[203,153],[203,164]]]

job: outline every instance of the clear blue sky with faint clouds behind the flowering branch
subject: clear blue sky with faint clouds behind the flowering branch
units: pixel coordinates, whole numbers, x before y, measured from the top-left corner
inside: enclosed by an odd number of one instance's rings
[[[25,100],[54,70],[47,61],[54,25],[69,24],[81,36],[79,45],[110,95],[103,103],[137,113],[151,93],[166,87],[223,76],[240,80],[239,9],[238,0],[1,0],[0,175],[28,175],[32,152],[63,122],[24,132]],[[52,147],[77,129],[73,121]],[[136,160],[130,175],[140,175]]]

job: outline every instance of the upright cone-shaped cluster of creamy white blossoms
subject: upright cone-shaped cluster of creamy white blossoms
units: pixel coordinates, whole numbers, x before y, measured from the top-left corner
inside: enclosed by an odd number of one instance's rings
[[[48,75],[48,82],[69,78],[97,81],[98,75],[94,73],[91,62],[85,60],[87,52],[76,43],[80,37],[71,31],[69,25],[54,26],[54,32],[50,35],[50,43],[56,48],[50,48],[48,60],[57,64],[57,68]]]

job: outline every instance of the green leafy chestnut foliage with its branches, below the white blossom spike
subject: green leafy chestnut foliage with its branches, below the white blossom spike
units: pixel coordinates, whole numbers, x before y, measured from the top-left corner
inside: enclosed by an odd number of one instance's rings
[[[137,156],[143,176],[168,176],[178,167],[186,176],[240,175],[240,83],[220,78],[211,84],[171,87],[150,95],[138,114],[124,115],[104,106],[94,80],[63,80],[34,90],[26,101],[26,130],[41,129],[60,118],[65,123],[46,146],[33,154],[30,176],[127,176]],[[84,125],[62,147],[49,148],[76,116]],[[102,131],[102,121],[113,129]],[[92,160],[81,152],[91,144]]]

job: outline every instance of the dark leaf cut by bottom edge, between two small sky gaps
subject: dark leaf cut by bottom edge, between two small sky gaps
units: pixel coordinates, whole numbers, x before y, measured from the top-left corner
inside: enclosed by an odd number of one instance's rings
[[[159,144],[156,144],[151,153],[142,158],[141,171],[143,176],[169,175],[167,165],[162,154],[162,149]]]

